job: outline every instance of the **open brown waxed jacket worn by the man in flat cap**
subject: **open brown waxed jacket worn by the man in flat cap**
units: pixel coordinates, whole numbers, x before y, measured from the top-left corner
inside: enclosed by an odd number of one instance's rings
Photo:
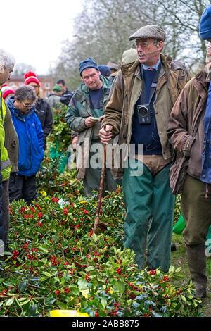
[[[162,155],[166,160],[171,160],[172,150],[167,139],[167,123],[172,107],[190,76],[183,63],[172,61],[170,57],[163,54],[160,54],[160,58],[162,67],[158,77],[153,107],[162,145]],[[127,144],[127,151],[129,151],[129,143],[132,136],[134,107],[141,94],[141,87],[139,60],[123,65],[116,77],[113,94],[110,96],[106,106],[106,118],[102,123],[102,126],[112,125],[113,137],[119,135],[118,145]],[[117,149],[114,158],[118,153]],[[127,156],[127,153],[123,156],[124,160]],[[124,161],[120,161],[118,169],[113,170],[115,178],[122,177],[124,171],[123,163]]]

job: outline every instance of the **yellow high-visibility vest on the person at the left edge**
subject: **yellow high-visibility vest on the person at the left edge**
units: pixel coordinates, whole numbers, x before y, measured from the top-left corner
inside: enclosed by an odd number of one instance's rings
[[[5,132],[4,120],[6,116],[6,104],[2,98],[0,90],[0,149],[1,149],[1,176],[2,180],[8,180],[11,173],[11,161],[8,158],[7,150],[4,146]]]

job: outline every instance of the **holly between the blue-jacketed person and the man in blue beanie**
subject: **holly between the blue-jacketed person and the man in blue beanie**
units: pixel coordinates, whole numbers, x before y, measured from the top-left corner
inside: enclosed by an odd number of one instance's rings
[[[76,170],[65,170],[69,157],[67,150],[72,142],[71,132],[65,123],[66,113],[67,106],[61,105],[53,118],[46,156],[37,173],[37,189],[40,194],[62,194],[71,200],[82,194],[82,182],[76,179]]]

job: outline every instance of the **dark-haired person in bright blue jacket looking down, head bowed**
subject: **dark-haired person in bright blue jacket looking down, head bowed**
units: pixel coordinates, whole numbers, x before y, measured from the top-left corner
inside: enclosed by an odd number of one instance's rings
[[[11,173],[10,201],[24,199],[27,204],[37,199],[36,174],[44,158],[44,132],[34,113],[36,94],[33,87],[18,87],[7,101],[19,139],[18,172]]]

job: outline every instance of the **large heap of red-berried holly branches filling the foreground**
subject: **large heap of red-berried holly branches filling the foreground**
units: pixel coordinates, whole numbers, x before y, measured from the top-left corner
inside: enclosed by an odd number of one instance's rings
[[[198,316],[192,285],[173,285],[179,269],[140,272],[134,253],[123,249],[120,189],[103,198],[96,234],[96,197],[56,195],[32,206],[11,204],[9,251],[0,261],[1,316],[49,316],[55,308],[89,316]]]

